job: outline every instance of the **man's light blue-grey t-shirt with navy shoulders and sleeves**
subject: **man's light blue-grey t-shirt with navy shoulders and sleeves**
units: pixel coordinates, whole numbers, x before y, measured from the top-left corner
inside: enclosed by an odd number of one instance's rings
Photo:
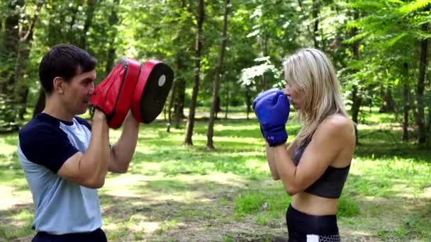
[[[102,226],[96,189],[57,175],[70,156],[89,146],[91,126],[40,113],[18,132],[18,159],[33,195],[33,229],[49,234],[83,233]]]

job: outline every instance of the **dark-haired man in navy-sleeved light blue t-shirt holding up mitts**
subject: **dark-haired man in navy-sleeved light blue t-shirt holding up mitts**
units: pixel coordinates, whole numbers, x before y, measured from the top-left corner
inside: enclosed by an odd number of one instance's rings
[[[18,158],[35,204],[33,241],[106,241],[96,189],[108,171],[128,171],[139,123],[126,110],[121,137],[110,146],[108,121],[116,110],[103,105],[118,103],[113,98],[119,94],[115,88],[94,91],[95,68],[96,60],[73,45],[52,47],[40,62],[45,109],[18,133]],[[124,72],[111,72],[103,82],[124,81],[118,78]],[[96,109],[89,125],[77,115],[91,104]]]

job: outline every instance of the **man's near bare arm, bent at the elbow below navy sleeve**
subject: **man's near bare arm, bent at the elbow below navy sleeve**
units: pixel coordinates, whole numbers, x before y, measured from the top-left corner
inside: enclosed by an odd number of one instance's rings
[[[88,149],[85,154],[77,152],[67,159],[57,174],[87,188],[101,188],[105,183],[110,156],[106,115],[95,110]]]

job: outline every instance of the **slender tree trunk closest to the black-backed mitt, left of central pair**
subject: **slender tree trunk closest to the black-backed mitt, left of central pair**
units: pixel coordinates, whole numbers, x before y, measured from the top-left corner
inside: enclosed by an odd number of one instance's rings
[[[196,100],[198,99],[198,88],[199,88],[199,74],[201,72],[201,50],[202,50],[202,39],[203,39],[203,17],[204,17],[204,9],[203,9],[203,0],[198,0],[198,16],[197,16],[197,32],[196,32],[196,46],[195,46],[195,69],[194,69],[194,79],[193,79],[193,91],[191,92],[191,100],[190,100],[190,111],[189,111],[189,119],[187,120],[186,126],[186,136],[184,138],[184,145],[189,146],[193,145],[191,140],[191,136],[193,134],[194,128],[194,115],[196,110]]]

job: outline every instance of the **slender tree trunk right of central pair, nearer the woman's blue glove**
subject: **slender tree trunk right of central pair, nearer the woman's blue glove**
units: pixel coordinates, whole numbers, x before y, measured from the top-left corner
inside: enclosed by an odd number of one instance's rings
[[[218,97],[218,92],[220,90],[220,74],[223,71],[223,58],[225,57],[226,48],[226,32],[228,30],[228,11],[229,11],[229,0],[225,0],[225,13],[223,14],[223,33],[222,40],[220,44],[220,52],[218,54],[218,64],[215,68],[215,77],[213,82],[213,102],[211,103],[210,119],[208,120],[208,130],[206,133],[206,146],[209,149],[214,149],[213,136],[214,136],[214,120],[215,114],[220,108],[220,98]]]

